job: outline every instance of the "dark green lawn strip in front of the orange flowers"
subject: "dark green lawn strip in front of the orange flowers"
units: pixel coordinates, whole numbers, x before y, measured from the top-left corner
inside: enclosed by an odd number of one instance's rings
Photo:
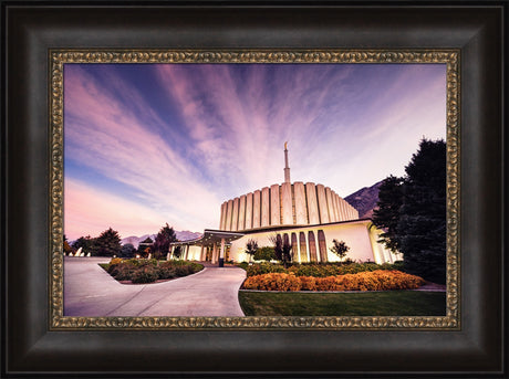
[[[246,316],[445,316],[444,292],[239,292]]]

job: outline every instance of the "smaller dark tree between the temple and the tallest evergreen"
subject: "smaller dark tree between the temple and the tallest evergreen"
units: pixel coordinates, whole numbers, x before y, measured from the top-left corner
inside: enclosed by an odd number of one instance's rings
[[[378,207],[373,211],[373,223],[384,231],[378,242],[392,252],[399,250],[397,224],[403,204],[403,178],[387,177],[380,186]]]

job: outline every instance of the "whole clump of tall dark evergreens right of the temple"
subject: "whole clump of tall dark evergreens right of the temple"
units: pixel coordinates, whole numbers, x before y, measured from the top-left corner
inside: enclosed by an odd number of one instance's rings
[[[423,139],[403,179],[387,178],[373,223],[382,241],[403,253],[404,270],[446,281],[446,144]],[[401,181],[399,181],[401,180]]]

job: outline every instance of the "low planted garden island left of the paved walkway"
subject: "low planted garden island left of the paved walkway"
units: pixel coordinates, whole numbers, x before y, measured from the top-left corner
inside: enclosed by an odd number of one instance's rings
[[[187,276],[204,269],[199,263],[187,261],[157,261],[114,257],[101,264],[115,280],[123,284],[154,283]]]

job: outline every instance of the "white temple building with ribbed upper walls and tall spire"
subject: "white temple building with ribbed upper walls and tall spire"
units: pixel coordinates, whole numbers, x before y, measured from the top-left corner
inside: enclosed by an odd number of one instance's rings
[[[331,188],[320,183],[290,180],[288,145],[284,144],[284,182],[271,185],[225,201],[219,228],[207,229],[200,239],[172,244],[170,254],[181,250],[187,260],[249,261],[248,240],[258,246],[272,246],[280,235],[292,245],[293,262],[333,262],[333,240],[350,248],[346,257],[360,262],[392,263],[401,260],[378,243],[381,230]]]

